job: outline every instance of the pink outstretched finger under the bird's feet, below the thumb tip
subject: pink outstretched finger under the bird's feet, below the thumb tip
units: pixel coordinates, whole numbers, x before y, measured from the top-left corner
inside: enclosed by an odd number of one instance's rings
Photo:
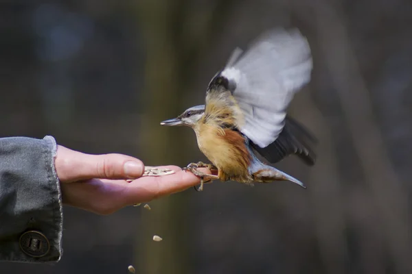
[[[124,192],[124,199],[128,205],[180,192],[201,182],[199,177],[190,171],[182,171],[179,166],[161,166],[159,168],[172,169],[176,173],[159,177],[141,177],[130,182]],[[199,169],[199,171],[211,174],[209,169]]]

